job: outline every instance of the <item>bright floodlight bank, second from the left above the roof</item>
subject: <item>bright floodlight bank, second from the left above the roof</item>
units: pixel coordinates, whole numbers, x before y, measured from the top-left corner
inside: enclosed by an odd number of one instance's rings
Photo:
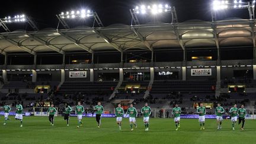
[[[81,9],[80,11],[67,11],[66,13],[61,12],[59,17],[63,19],[94,17],[94,12],[90,9]]]

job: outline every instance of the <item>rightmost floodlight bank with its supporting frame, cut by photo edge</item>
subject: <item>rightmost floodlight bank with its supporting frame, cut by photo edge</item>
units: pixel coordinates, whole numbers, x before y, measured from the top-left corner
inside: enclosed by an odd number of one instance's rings
[[[223,1],[223,0],[214,0],[212,2],[212,21],[216,19],[216,12],[224,11],[228,9],[248,9],[249,18],[254,19],[254,1],[244,2],[242,0],[233,0],[233,1]]]

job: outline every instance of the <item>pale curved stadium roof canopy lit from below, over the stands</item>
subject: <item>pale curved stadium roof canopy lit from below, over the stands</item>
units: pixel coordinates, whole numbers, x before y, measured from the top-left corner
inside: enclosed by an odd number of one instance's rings
[[[17,30],[0,34],[0,52],[104,52],[255,46],[254,20],[199,21],[143,25],[114,24],[64,30]]]

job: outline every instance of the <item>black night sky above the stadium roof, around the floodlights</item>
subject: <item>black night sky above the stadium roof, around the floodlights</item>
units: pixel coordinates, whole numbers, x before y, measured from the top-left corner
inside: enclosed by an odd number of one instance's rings
[[[99,17],[103,21],[105,26],[110,24],[129,24],[131,23],[131,15],[129,12],[130,8],[134,8],[136,5],[140,4],[152,4],[152,3],[161,3],[161,4],[170,4],[174,5],[177,9],[177,15],[179,22],[186,20],[206,20],[210,21],[210,4],[212,0],[163,0],[163,1],[151,1],[151,0],[23,0],[23,1],[1,1],[0,17],[4,18],[8,15],[15,14],[26,14],[34,18],[39,25],[40,29],[47,27],[57,27],[58,20],[56,14],[60,14],[62,11],[71,11],[71,9],[82,9],[90,8],[94,11],[97,11]],[[164,21],[167,23],[171,22],[170,14],[158,17],[158,21]],[[221,14],[220,19],[227,17],[241,17],[248,18],[247,9],[229,11],[225,14]],[[140,18],[143,20],[152,20],[152,17]],[[68,22],[72,27],[78,25],[90,25],[92,26],[92,20],[87,21],[69,21]],[[8,25],[10,29],[27,29],[26,25],[23,24],[11,24]],[[60,27],[62,28],[62,27]],[[0,31],[3,31],[0,28]]]

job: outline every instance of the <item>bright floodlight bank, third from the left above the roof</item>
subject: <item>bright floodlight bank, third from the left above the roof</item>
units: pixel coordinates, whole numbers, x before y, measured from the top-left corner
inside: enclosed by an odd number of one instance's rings
[[[165,4],[153,4],[153,5],[140,5],[133,9],[136,14],[161,14],[162,12],[171,12],[171,6]]]

